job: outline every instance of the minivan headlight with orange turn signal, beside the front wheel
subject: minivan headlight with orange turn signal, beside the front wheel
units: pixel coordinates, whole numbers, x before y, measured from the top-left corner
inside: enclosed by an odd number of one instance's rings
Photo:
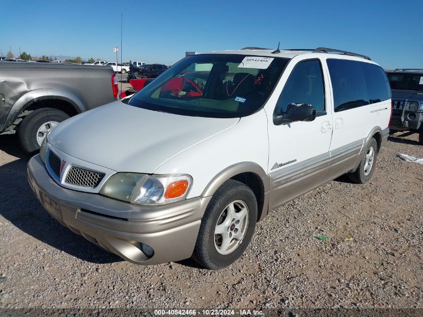
[[[192,185],[189,175],[146,175],[117,173],[100,194],[142,205],[156,205],[185,199]]]

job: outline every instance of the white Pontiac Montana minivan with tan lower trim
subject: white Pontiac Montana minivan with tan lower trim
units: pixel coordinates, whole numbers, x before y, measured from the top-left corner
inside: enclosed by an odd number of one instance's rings
[[[368,181],[390,112],[386,75],[365,56],[197,54],[56,126],[28,176],[53,217],[128,261],[218,269],[273,208],[344,173]]]

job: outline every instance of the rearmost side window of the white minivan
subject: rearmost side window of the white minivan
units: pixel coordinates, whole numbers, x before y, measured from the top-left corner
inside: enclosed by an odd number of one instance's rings
[[[390,99],[390,86],[384,70],[374,64],[360,64],[364,70],[370,104]]]

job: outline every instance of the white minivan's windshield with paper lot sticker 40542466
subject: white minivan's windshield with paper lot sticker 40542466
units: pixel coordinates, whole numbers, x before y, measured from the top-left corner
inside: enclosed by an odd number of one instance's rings
[[[248,116],[263,105],[287,62],[260,56],[192,55],[166,70],[128,104],[186,116]]]

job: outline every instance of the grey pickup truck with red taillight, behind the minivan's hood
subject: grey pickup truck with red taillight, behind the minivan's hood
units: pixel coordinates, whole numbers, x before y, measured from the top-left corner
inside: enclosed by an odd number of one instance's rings
[[[51,128],[117,95],[109,67],[0,62],[0,134],[18,133],[22,148],[33,152]]]

